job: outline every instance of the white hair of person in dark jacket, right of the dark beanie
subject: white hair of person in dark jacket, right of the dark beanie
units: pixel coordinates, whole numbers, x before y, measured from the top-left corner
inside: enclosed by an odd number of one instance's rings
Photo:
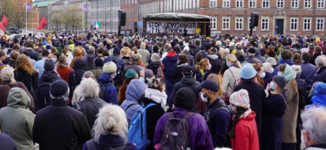
[[[84,98],[98,97],[99,95],[99,84],[92,78],[83,78],[80,82],[81,95]]]

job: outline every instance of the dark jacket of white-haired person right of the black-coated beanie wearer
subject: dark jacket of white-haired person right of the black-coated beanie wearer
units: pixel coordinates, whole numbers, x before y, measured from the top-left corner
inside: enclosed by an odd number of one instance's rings
[[[86,116],[87,121],[90,127],[92,128],[97,118],[96,115],[98,114],[98,111],[105,103],[106,103],[105,101],[96,97],[96,98],[85,98],[82,101],[73,103],[72,106]]]

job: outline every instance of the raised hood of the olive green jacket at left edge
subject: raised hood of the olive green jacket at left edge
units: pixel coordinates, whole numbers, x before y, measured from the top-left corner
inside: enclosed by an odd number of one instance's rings
[[[7,99],[8,106],[27,108],[31,105],[31,99],[21,88],[11,88]]]

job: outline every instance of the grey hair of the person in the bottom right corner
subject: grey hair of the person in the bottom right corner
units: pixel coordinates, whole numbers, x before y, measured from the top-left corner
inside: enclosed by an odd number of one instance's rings
[[[318,144],[326,144],[326,107],[314,106],[301,113],[302,126],[312,140]]]

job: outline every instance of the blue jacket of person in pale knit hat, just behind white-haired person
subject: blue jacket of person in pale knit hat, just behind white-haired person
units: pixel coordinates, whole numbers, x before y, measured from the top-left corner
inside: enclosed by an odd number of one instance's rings
[[[102,84],[112,83],[113,79],[109,73],[103,73],[98,77],[98,82]],[[106,95],[104,101],[107,103],[118,105],[117,89],[113,85],[107,85],[105,87]]]

